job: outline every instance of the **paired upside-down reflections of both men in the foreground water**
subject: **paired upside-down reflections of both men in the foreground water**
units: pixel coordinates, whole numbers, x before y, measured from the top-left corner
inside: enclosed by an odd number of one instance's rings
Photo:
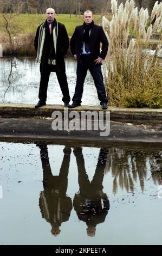
[[[40,147],[43,167],[43,187],[40,193],[40,209],[42,217],[51,224],[51,233],[60,234],[62,222],[69,220],[72,211],[72,199],[66,195],[71,149],[63,149],[63,161],[58,176],[53,176],[49,164],[47,145]],[[101,149],[92,182],[89,181],[85,169],[82,148],[74,148],[78,168],[80,192],[73,200],[74,209],[79,220],[86,222],[87,235],[94,236],[96,225],[105,221],[109,210],[109,200],[103,193],[103,176],[106,165],[107,149]]]

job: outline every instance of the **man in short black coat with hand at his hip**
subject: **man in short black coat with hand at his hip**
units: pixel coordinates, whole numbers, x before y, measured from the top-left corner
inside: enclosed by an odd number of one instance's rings
[[[94,24],[92,11],[85,11],[83,20],[83,25],[75,28],[70,40],[72,54],[77,59],[77,80],[73,104],[70,105],[70,108],[81,105],[83,84],[89,69],[97,89],[100,105],[102,109],[107,109],[108,100],[103,84],[101,64],[108,51],[108,41],[103,28]],[[101,53],[100,43],[102,43]]]

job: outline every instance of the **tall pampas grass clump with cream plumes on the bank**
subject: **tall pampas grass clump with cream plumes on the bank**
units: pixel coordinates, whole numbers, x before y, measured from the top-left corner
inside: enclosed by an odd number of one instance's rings
[[[102,18],[109,42],[103,65],[109,105],[160,108],[162,70],[151,36],[161,34],[162,3],[155,2],[151,17],[147,9],[138,12],[133,0],[119,6],[112,0],[111,4],[112,20]]]

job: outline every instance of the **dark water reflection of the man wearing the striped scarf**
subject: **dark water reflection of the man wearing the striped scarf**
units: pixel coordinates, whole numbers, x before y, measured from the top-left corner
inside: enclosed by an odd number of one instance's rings
[[[42,217],[51,224],[51,233],[60,234],[62,222],[69,220],[72,211],[72,199],[66,195],[68,187],[68,172],[71,149],[64,147],[63,161],[59,176],[53,176],[50,168],[47,145],[38,145],[40,148],[43,168],[43,188],[40,193],[39,206]]]

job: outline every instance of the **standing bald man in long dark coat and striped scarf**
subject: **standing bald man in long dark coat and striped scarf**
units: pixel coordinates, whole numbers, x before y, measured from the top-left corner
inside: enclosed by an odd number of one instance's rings
[[[46,10],[47,20],[37,28],[35,36],[35,50],[37,62],[40,63],[41,81],[39,99],[35,108],[46,105],[47,87],[50,72],[56,72],[57,80],[63,94],[64,107],[69,106],[70,95],[64,64],[64,54],[69,48],[69,37],[65,26],[55,19],[55,10]]]

